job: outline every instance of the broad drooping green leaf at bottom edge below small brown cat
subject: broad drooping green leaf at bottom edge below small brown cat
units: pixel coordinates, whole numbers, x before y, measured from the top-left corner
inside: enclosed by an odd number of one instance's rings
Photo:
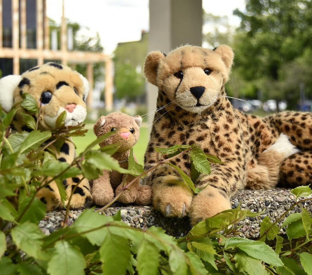
[[[109,231],[100,247],[104,275],[123,275],[130,260],[128,240]],[[117,260],[118,259],[118,260]]]

